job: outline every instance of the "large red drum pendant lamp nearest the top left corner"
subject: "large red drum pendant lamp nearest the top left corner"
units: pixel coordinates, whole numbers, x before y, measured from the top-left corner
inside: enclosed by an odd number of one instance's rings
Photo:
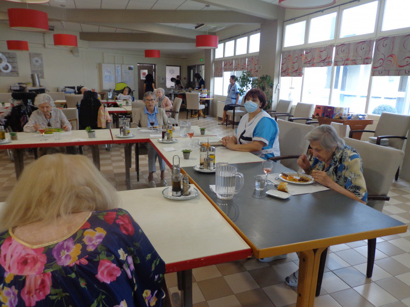
[[[11,29],[33,32],[47,32],[47,13],[31,9],[8,9]]]

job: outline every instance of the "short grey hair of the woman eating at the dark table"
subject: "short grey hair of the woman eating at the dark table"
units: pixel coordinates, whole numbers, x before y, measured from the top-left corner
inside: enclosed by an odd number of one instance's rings
[[[344,140],[339,137],[335,128],[331,125],[320,125],[314,128],[305,136],[310,141],[319,141],[320,146],[327,151],[336,149],[341,150],[344,147]]]

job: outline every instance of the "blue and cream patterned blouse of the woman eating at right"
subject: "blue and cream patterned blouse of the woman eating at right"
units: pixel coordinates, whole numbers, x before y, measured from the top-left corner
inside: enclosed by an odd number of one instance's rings
[[[332,161],[326,169],[319,159],[313,159],[311,171],[324,170],[334,182],[353,192],[358,199],[367,202],[367,189],[363,177],[363,162],[359,153],[350,146],[344,145],[336,150]]]

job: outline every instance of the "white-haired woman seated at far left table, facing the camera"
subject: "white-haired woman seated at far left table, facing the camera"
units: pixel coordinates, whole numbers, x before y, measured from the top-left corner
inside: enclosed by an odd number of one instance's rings
[[[63,128],[65,131],[71,130],[71,124],[67,117],[63,111],[55,107],[50,95],[37,95],[34,106],[38,107],[38,110],[31,114],[28,123],[23,128],[24,132],[38,131],[38,128],[42,126],[45,128]]]

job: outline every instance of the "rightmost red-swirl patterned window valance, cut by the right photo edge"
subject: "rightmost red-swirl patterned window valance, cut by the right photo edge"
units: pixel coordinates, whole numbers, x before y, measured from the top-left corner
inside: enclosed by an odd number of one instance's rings
[[[376,40],[373,76],[410,76],[410,34]]]

